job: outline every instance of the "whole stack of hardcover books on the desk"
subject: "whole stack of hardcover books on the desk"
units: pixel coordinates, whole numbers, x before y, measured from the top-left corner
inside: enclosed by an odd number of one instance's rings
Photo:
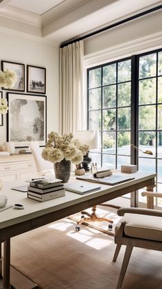
[[[32,181],[27,187],[27,197],[38,200],[39,202],[44,202],[45,200],[52,200],[53,198],[65,196],[65,188],[61,182],[62,180],[59,180],[58,178]]]

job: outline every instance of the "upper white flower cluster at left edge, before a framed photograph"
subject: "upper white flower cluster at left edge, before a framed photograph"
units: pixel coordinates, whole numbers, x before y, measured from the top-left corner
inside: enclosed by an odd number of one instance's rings
[[[0,71],[0,86],[5,87],[5,89],[10,89],[14,86],[17,80],[16,73],[12,70]]]

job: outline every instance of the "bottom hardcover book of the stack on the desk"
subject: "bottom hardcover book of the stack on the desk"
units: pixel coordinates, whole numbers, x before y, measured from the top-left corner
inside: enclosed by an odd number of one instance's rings
[[[60,189],[59,191],[46,193],[46,194],[27,192],[27,198],[38,200],[38,202],[45,202],[45,200],[52,200],[54,198],[60,198],[62,196],[65,196],[65,189]]]

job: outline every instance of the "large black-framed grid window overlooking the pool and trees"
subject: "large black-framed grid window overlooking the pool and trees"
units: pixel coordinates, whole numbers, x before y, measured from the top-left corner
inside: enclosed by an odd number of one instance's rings
[[[100,131],[93,161],[157,172],[162,189],[162,49],[87,69],[87,108],[87,128]]]

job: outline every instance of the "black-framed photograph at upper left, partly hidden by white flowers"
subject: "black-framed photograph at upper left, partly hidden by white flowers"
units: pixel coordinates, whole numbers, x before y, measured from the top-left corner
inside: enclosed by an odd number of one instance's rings
[[[16,62],[9,62],[1,60],[1,69],[4,71],[6,69],[13,70],[16,73],[17,81],[12,87],[12,89],[5,89],[8,91],[25,91],[25,65]]]

